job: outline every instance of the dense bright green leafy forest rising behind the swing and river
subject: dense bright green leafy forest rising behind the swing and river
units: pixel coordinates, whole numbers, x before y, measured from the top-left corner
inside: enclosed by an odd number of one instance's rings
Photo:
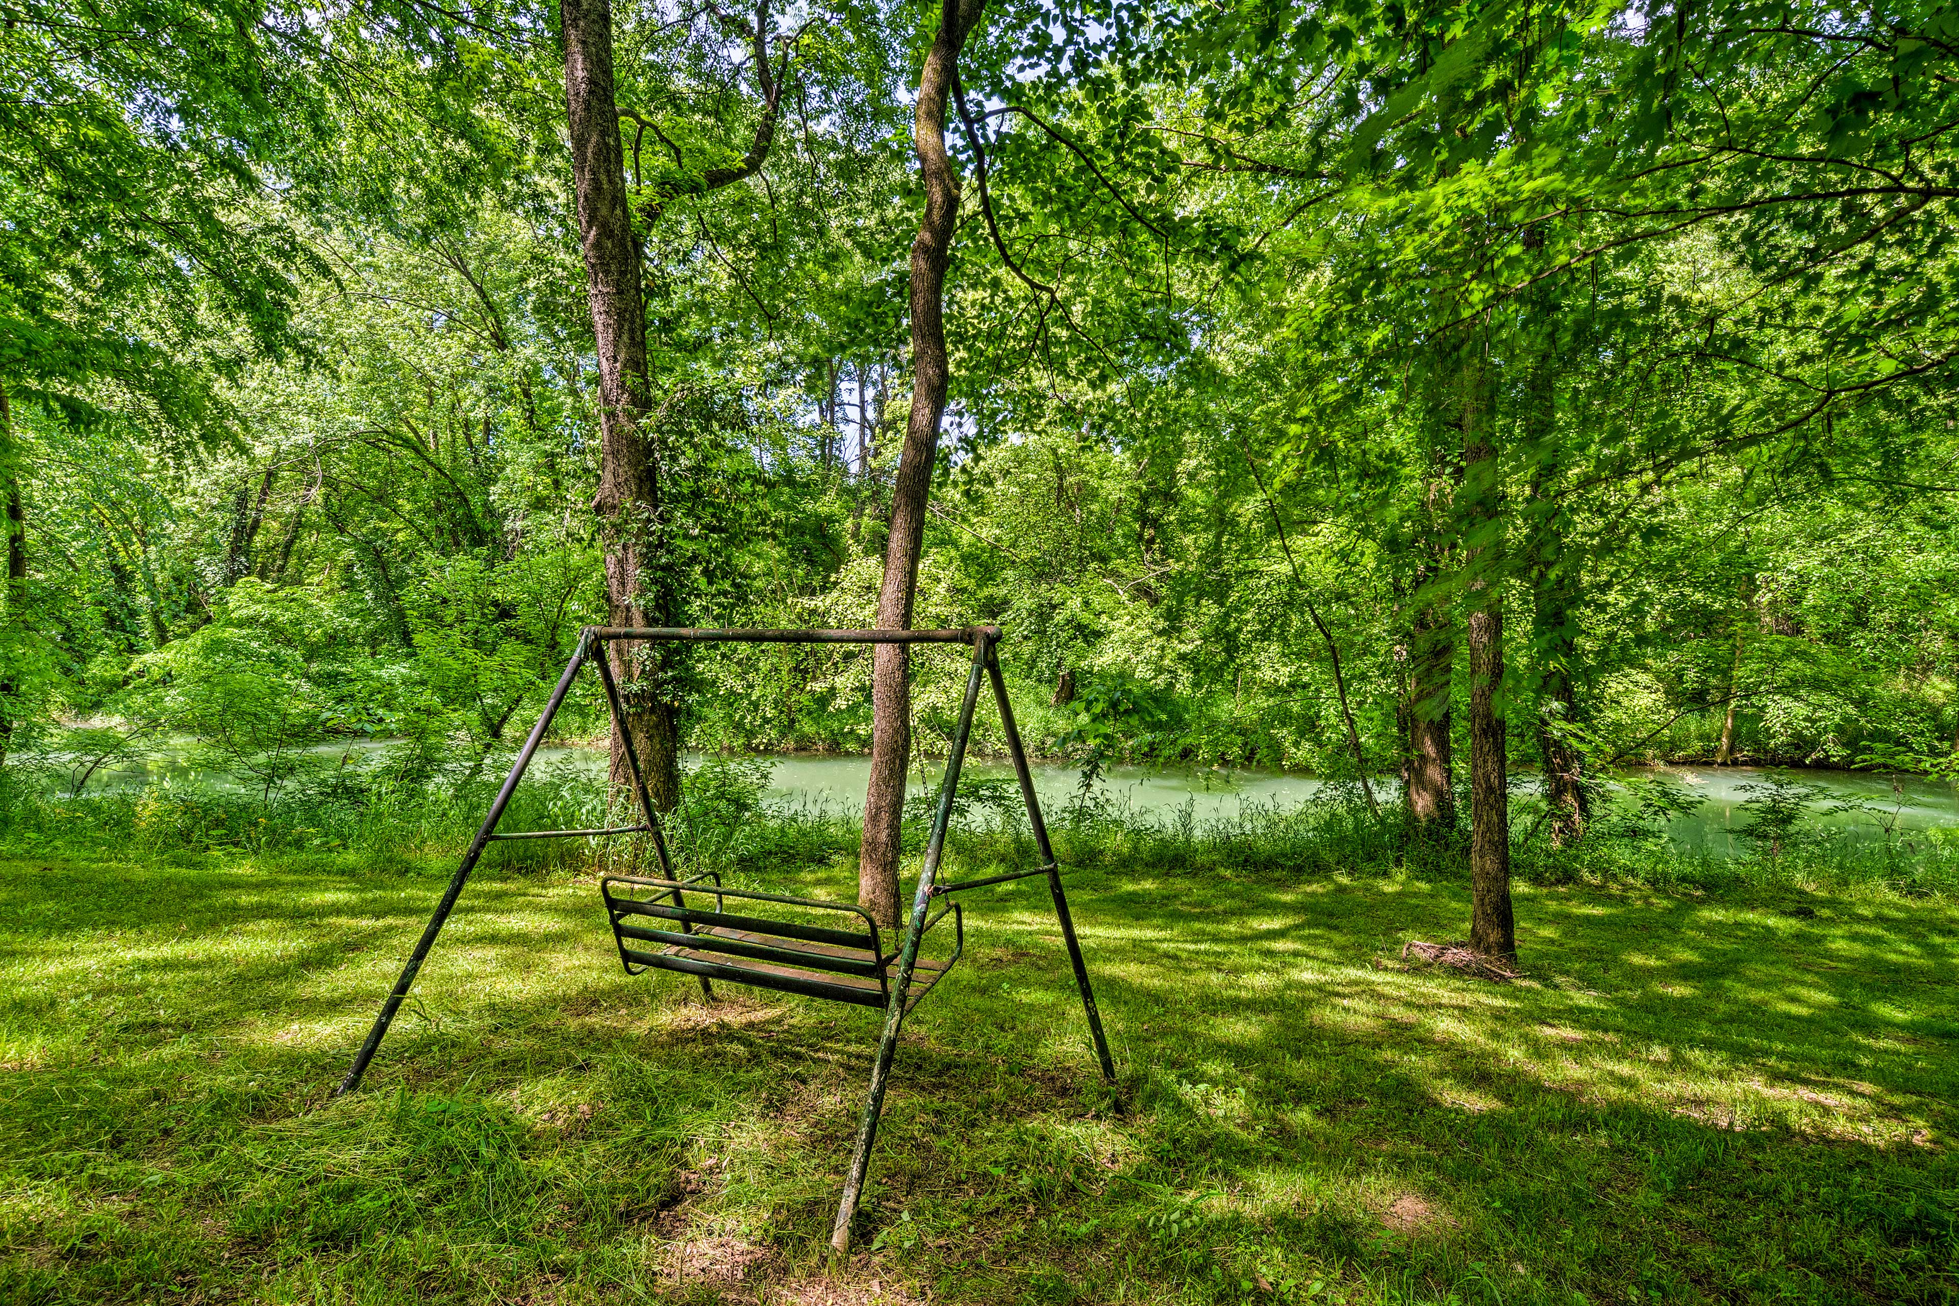
[[[878,621],[915,69],[970,29],[913,625],[999,623],[1042,750],[1483,807],[1485,860],[1634,762],[1951,770],[1951,6],[6,14],[16,797],[192,734],[266,805],[372,805],[521,736],[625,538],[594,14],[646,611]],[[929,752],[956,670],[913,674]],[[693,748],[872,742],[854,654],[646,676]],[[319,775],[355,736],[398,746]]]

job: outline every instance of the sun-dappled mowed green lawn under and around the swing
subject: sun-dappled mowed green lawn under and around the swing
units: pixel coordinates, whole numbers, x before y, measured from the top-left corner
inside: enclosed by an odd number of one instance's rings
[[[0,1300],[1959,1300],[1949,903],[1526,887],[1493,985],[1399,963],[1457,883],[1083,871],[1119,1114],[978,891],[838,1265],[880,1014],[629,979],[592,877],[486,871],[329,1098],[439,893],[0,862]]]

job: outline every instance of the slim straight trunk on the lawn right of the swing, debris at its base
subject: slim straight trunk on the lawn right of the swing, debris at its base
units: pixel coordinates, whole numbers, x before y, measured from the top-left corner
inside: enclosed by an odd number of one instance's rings
[[[1503,482],[1487,360],[1465,341],[1463,421],[1463,607],[1469,644],[1469,946],[1516,956],[1510,912],[1508,734],[1503,703]]]

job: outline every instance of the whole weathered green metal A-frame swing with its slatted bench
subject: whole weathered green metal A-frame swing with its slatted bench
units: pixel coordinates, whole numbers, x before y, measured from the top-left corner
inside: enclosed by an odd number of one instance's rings
[[[462,863],[449,881],[443,901],[429,918],[415,952],[402,977],[374,1018],[360,1053],[335,1091],[353,1093],[360,1087],[368,1061],[388,1034],[388,1024],[407,997],[421,963],[441,934],[443,924],[462,895],[462,885],[484,848],[492,840],[503,838],[594,838],[611,834],[650,834],[658,854],[658,877],[607,875],[599,881],[605,901],[605,914],[611,922],[613,940],[619,946],[619,961],[629,975],[645,971],[682,971],[695,975],[701,995],[713,999],[713,981],[754,985],[780,993],[874,1006],[885,1012],[884,1036],[878,1040],[878,1057],[872,1063],[870,1095],[864,1100],[864,1116],[858,1124],[856,1145],[850,1155],[850,1173],[844,1179],[842,1200],[836,1206],[836,1224],[831,1230],[831,1245],[842,1253],[850,1247],[850,1220],[856,1214],[858,1196],[864,1190],[864,1175],[870,1169],[870,1149],[878,1138],[878,1116],[884,1110],[884,1091],[891,1073],[891,1059],[897,1053],[897,1032],[905,1016],[931,993],[952,969],[966,948],[966,922],[958,903],[946,903],[932,912],[932,899],[950,897],[966,889],[981,889],[1013,879],[1044,875],[1048,893],[1054,899],[1054,914],[1062,928],[1062,942],[1068,946],[1068,959],[1074,963],[1075,987],[1081,991],[1081,1008],[1087,1014],[1089,1034],[1095,1040],[1095,1057],[1101,1063],[1103,1079],[1115,1083],[1115,1063],[1109,1057],[1109,1040],[1103,1036],[1101,1014],[1095,1010],[1095,993],[1089,987],[1089,971],[1081,961],[1081,944],[1075,940],[1074,918],[1068,912],[1068,897],[1062,891],[1062,875],[1048,842],[1048,826],[1040,818],[1040,801],[1034,797],[1034,777],[1027,766],[1027,750],[1021,748],[1021,732],[1013,723],[1013,705],[1007,701],[1007,683],[1001,679],[999,627],[968,627],[960,630],[693,630],[680,627],[586,627],[578,636],[578,650],[558,677],[550,699],[537,724],[531,726],[517,762],[509,768],[503,787],[490,805],[490,815],[476,830]],[[952,732],[952,750],[946,756],[946,777],[938,787],[938,807],[932,815],[932,832],[925,844],[925,862],[919,867],[919,883],[911,899],[911,916],[893,940],[895,950],[885,952],[878,922],[860,907],[846,903],[823,903],[817,899],[795,899],[776,893],[754,893],[748,889],[729,889],[713,871],[693,875],[686,881],[674,877],[674,863],[666,854],[666,838],[660,818],[652,811],[646,793],[646,779],[639,768],[631,734],[621,732],[625,760],[633,775],[633,791],[639,799],[641,820],[627,826],[607,826],[597,830],[517,830],[498,832],[503,809],[511,793],[523,779],[525,768],[537,752],[545,730],[556,717],[564,695],[570,691],[578,672],[596,662],[599,679],[605,685],[605,699],[613,719],[623,719],[619,685],[613,677],[605,646],[613,642],[705,642],[705,644],[970,644],[974,650],[972,670],[966,677],[966,699],[960,705],[958,726]],[[1021,797],[1027,801],[1027,818],[1034,830],[1034,846],[1040,852],[1040,865],[1030,871],[1009,871],[968,879],[960,883],[938,883],[938,860],[946,846],[946,828],[952,824],[952,797],[960,783],[960,766],[966,760],[966,744],[972,738],[974,709],[980,703],[980,681],[991,679],[993,699],[999,705],[1001,728],[1007,736],[1007,752],[1013,756],[1013,770],[1021,781]],[[692,903],[690,903],[692,895]],[[693,905],[713,899],[713,910]],[[731,901],[737,910],[727,910]],[[746,905],[754,907],[746,907]],[[833,924],[805,924],[764,916],[766,905],[793,907],[799,912],[827,912]],[[756,914],[750,914],[756,912]],[[952,916],[952,950],[940,957],[921,956],[925,936],[946,916]]]

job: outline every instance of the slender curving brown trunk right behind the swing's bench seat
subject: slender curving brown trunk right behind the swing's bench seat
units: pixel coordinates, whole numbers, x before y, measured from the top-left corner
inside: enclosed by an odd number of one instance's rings
[[[925,182],[925,221],[911,243],[911,419],[891,490],[891,535],[884,550],[878,625],[911,627],[925,544],[925,503],[938,458],[938,421],[946,411],[946,262],[960,211],[960,184],[946,155],[946,102],[958,76],[960,49],[980,22],[985,0],[944,0],[938,35],[919,74],[919,106],[911,139]],[[858,903],[884,924],[897,924],[899,824],[905,813],[905,758],[911,750],[911,681],[903,644],[878,644],[872,654],[870,789],[864,795],[864,850],[858,863]]]

